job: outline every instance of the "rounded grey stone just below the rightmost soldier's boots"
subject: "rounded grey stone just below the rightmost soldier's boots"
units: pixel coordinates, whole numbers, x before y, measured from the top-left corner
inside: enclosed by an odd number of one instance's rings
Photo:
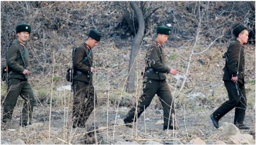
[[[240,134],[239,129],[233,123],[224,122],[223,127],[221,127],[221,129],[223,130],[222,136],[229,137],[229,136]]]

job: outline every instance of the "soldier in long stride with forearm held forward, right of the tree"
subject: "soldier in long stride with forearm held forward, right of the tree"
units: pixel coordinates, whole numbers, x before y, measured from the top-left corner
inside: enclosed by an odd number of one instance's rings
[[[163,130],[167,128],[175,129],[172,124],[172,116],[175,115],[174,103],[172,102],[172,94],[166,82],[165,73],[176,75],[177,71],[165,66],[165,52],[162,46],[167,41],[170,31],[171,29],[165,26],[157,27],[157,38],[151,43],[146,56],[147,66],[144,73],[143,94],[140,96],[138,105],[132,107],[124,119],[128,127],[132,127],[130,123],[140,117],[144,109],[150,105],[155,94],[157,94],[163,106]]]

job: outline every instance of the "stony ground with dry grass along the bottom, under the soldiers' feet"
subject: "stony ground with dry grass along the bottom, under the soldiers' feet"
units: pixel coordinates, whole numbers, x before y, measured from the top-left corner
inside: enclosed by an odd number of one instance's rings
[[[245,124],[251,127],[250,130],[239,131],[232,126],[234,111],[224,116],[220,120],[220,126],[223,127],[216,129],[209,119],[211,110],[202,108],[185,112],[180,108],[176,109],[178,129],[163,131],[163,112],[151,107],[141,115],[134,128],[123,125],[122,119],[129,108],[121,107],[116,112],[116,108],[98,106],[86,122],[86,128],[76,129],[71,127],[71,112],[68,109],[65,108],[65,111],[52,109],[49,120],[49,109],[35,108],[34,123],[28,127],[18,126],[21,108],[16,109],[13,121],[8,123],[5,130],[2,126],[1,144],[13,144],[18,138],[22,140],[19,144],[218,144],[219,142],[255,144],[255,111],[253,110],[247,110],[245,116]],[[93,131],[94,125],[97,131]],[[244,139],[240,142],[238,137],[232,138],[234,135],[246,136],[249,140]]]

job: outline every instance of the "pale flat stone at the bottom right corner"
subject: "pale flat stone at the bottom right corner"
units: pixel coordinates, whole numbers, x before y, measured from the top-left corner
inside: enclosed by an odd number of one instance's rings
[[[253,136],[248,134],[238,134],[229,137],[231,141],[228,142],[228,144],[252,144],[250,141],[252,141]]]

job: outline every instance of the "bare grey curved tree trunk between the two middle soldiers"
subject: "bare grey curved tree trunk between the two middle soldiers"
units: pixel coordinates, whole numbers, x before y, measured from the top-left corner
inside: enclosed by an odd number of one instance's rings
[[[131,43],[131,55],[130,55],[130,62],[129,62],[129,76],[127,80],[127,86],[126,86],[126,92],[132,93],[135,90],[135,67],[134,62],[135,58],[137,56],[137,53],[140,49],[140,43],[142,41],[144,30],[145,30],[145,21],[144,21],[144,15],[142,13],[142,10],[138,6],[137,2],[130,2],[131,8],[134,10],[134,13],[136,15],[136,18],[139,22],[139,29],[137,31],[137,34],[134,37],[134,40],[132,40]]]

